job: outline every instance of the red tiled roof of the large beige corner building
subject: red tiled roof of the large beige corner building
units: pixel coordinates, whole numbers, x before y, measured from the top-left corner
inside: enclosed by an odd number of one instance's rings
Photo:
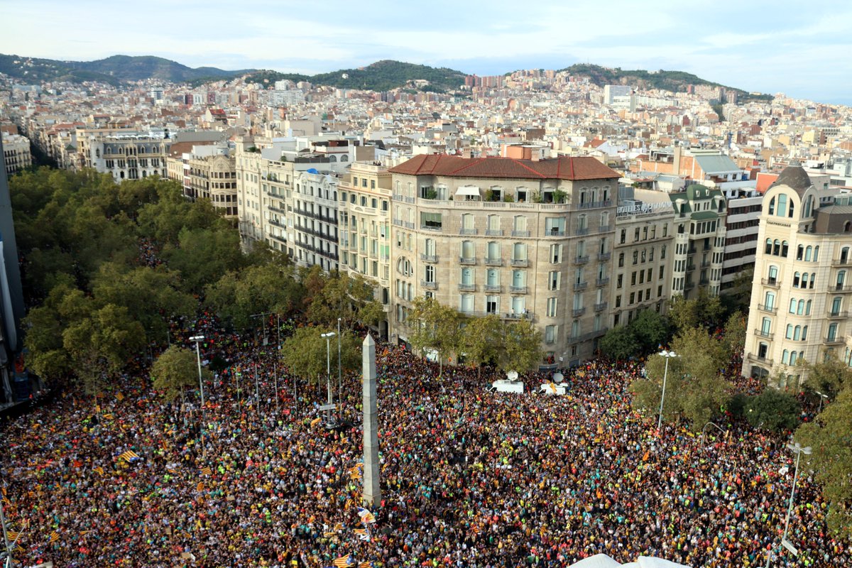
[[[444,154],[421,154],[388,170],[394,174],[446,175],[450,177],[492,177],[551,180],[600,180],[620,177],[595,158],[461,158]]]

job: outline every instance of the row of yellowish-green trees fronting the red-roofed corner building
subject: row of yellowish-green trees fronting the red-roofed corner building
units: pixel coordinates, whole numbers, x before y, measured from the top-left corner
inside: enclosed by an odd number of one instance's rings
[[[434,352],[441,373],[444,361],[453,354],[480,369],[490,364],[523,372],[537,369],[541,362],[541,333],[529,319],[506,322],[494,314],[467,317],[434,298],[420,297],[408,314],[408,326],[412,348]]]

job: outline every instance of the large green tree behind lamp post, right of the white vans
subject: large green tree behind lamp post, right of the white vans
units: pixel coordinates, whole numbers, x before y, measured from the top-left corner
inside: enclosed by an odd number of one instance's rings
[[[727,350],[700,328],[682,332],[671,341],[671,347],[677,357],[652,355],[646,364],[648,378],[630,383],[634,405],[648,412],[659,410],[668,359],[663,416],[667,421],[683,416],[700,430],[729,399],[728,382],[720,376],[728,360]]]

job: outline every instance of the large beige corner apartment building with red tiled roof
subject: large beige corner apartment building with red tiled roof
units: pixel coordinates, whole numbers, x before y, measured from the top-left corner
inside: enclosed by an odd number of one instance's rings
[[[543,366],[592,356],[606,330],[619,174],[595,158],[421,155],[389,169],[391,339],[412,300],[462,313],[530,318]],[[600,290],[600,291],[599,291]]]

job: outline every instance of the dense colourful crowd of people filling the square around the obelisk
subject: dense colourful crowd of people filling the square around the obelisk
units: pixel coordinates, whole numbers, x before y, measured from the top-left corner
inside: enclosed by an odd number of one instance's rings
[[[339,432],[317,420],[325,385],[289,376],[273,348],[212,318],[184,327],[187,347],[201,333],[204,359],[228,362],[203,413],[194,396],[165,402],[140,359],[98,399],[68,390],[3,427],[3,503],[25,564],[495,568],[604,553],[733,568],[765,565],[770,549],[774,566],[852,561],[806,466],[788,536],[800,554],[781,554],[785,439],[738,422],[724,436],[657,432],[630,408],[633,363],[566,371],[566,395],[489,393],[493,374],[439,377],[380,345],[383,495],[365,524],[360,376],[345,380],[354,427]]]

